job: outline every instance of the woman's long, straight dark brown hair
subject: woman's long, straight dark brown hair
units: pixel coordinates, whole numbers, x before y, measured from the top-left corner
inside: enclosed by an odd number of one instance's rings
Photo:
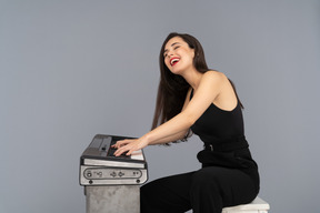
[[[159,55],[160,83],[158,88],[156,111],[154,111],[154,116],[153,116],[151,129],[154,129],[158,125],[169,121],[170,119],[172,119],[173,116],[176,116],[178,113],[181,112],[188,90],[190,88],[189,83],[181,75],[173,74],[164,64],[164,55],[163,55],[164,47],[167,42],[174,37],[180,37],[184,42],[189,44],[189,48],[194,50],[193,65],[197,69],[197,71],[204,73],[210,70],[206,62],[204,51],[202,49],[202,45],[194,37],[190,34],[171,32],[163,41],[163,44],[160,50],[160,55]],[[234,85],[232,82],[231,84],[234,89]],[[236,92],[236,89],[234,89],[234,92]],[[238,94],[237,94],[237,98],[238,98]],[[186,135],[186,139],[189,134],[190,134],[190,131]]]

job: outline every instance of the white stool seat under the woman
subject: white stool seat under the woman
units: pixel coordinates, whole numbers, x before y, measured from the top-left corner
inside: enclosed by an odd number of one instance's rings
[[[251,203],[223,207],[222,213],[268,213],[270,205],[260,197],[256,197]]]

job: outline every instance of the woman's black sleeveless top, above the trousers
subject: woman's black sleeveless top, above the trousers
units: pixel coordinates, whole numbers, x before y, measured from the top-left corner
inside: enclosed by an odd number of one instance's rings
[[[192,95],[193,90],[190,100]],[[204,143],[204,149],[197,155],[202,166],[240,169],[250,174],[259,187],[258,165],[251,158],[249,144],[244,138],[239,100],[231,111],[222,110],[211,103],[191,130]]]

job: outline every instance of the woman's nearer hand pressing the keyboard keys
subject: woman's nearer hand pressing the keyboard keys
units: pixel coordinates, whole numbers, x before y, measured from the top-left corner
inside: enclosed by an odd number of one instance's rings
[[[114,152],[116,156],[120,156],[123,152],[127,152],[126,155],[131,155],[132,152],[137,150],[141,150],[148,145],[148,141],[146,138],[139,138],[139,139],[126,139],[122,141],[118,141],[114,145],[116,149],[118,149]]]

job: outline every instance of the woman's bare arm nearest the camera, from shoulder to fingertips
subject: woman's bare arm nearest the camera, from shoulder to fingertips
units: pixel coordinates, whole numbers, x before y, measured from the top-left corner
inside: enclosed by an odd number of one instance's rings
[[[176,135],[182,131],[189,130],[190,126],[202,115],[202,113],[209,108],[221,91],[221,85],[226,82],[227,77],[223,73],[210,71],[206,72],[198,85],[197,92],[192,100],[186,105],[186,109],[173,116],[168,122],[159,125],[154,130],[148,132],[137,141],[121,146],[118,145],[118,150],[114,153],[120,155],[128,151],[128,155],[132,151],[140,150],[150,144],[157,144],[159,142],[166,143],[166,140],[172,135]],[[121,148],[120,148],[121,146]]]

